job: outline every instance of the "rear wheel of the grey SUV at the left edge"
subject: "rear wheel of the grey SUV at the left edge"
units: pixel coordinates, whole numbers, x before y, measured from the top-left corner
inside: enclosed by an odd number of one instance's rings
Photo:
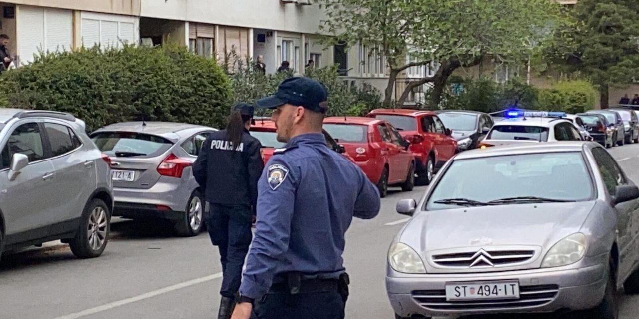
[[[80,227],[69,246],[78,258],[95,258],[102,255],[109,242],[111,212],[107,204],[94,198],[82,212]]]

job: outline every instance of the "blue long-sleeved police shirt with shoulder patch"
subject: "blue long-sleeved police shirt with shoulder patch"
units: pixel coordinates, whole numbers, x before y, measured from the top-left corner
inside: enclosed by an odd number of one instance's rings
[[[353,216],[380,212],[380,194],[362,170],[326,145],[322,133],[275,150],[258,181],[256,232],[240,293],[258,299],[284,272],[338,278]]]

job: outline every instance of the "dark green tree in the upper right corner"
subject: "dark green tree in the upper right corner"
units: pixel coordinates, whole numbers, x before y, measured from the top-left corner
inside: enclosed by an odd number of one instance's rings
[[[610,85],[629,83],[639,72],[639,6],[635,0],[580,0],[570,14],[546,57],[589,77],[606,108]]]

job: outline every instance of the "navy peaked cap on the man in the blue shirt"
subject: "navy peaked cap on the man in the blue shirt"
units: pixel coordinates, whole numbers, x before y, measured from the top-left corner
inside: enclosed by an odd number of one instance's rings
[[[272,96],[258,100],[260,108],[277,108],[284,104],[308,108],[315,112],[328,110],[328,92],[324,85],[305,77],[287,78]]]

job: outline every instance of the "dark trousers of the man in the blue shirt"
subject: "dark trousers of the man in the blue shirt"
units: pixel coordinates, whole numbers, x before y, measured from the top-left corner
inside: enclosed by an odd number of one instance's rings
[[[346,302],[337,291],[266,293],[255,301],[252,319],[343,319]]]

